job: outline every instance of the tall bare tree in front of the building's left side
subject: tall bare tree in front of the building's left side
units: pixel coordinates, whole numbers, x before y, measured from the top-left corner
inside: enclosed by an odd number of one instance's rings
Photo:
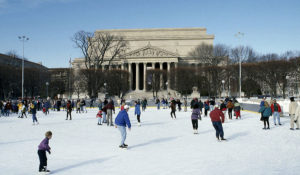
[[[74,34],[72,40],[83,53],[86,69],[93,70],[85,74],[88,86],[93,84],[92,81],[96,82],[95,86],[88,88],[88,94],[90,97],[97,96],[102,84],[98,84],[98,76],[95,77],[92,74],[96,73],[105,61],[110,65],[114,59],[125,53],[128,43],[122,36],[105,32],[93,34],[79,31]]]

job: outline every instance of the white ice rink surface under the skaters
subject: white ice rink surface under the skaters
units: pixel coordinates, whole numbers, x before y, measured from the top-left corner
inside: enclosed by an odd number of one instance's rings
[[[172,120],[169,109],[149,108],[138,127],[130,109],[129,149],[121,150],[119,131],[98,126],[96,112],[73,112],[72,121],[65,120],[65,112],[50,111],[46,117],[38,113],[36,126],[30,118],[1,117],[0,174],[37,174],[37,146],[48,130],[53,132],[48,168],[57,175],[300,173],[300,131],[289,130],[288,118],[280,127],[271,122],[266,131],[258,114],[242,112],[242,120],[223,125],[228,141],[217,142],[209,118],[199,122],[199,134],[194,135],[190,111],[177,112]]]

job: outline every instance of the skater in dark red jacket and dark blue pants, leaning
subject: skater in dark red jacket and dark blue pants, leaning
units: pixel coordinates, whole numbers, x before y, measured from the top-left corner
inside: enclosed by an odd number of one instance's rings
[[[215,105],[215,109],[210,112],[209,116],[211,118],[213,127],[216,130],[217,139],[220,140],[221,137],[221,140],[226,140],[224,138],[224,131],[222,127],[222,123],[224,123],[224,114],[218,107],[218,105]]]

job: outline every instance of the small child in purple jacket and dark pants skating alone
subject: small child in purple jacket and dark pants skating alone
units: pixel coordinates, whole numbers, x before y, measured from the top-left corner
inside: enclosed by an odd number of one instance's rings
[[[46,151],[51,154],[51,148],[49,146],[49,140],[52,138],[52,132],[47,131],[45,134],[46,138],[42,140],[42,142],[38,146],[38,156],[40,159],[39,172],[50,172],[47,169],[47,156]]]

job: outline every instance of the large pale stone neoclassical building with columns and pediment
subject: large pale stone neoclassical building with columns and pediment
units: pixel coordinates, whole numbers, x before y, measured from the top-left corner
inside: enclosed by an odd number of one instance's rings
[[[170,71],[178,64],[198,64],[189,53],[198,45],[213,45],[214,35],[206,33],[206,28],[162,28],[162,29],[113,29],[97,30],[123,36],[128,41],[128,50],[120,58],[114,59],[109,67],[128,70],[130,89],[146,91],[146,70],[162,69]],[[103,64],[107,66],[108,62]],[[84,67],[84,59],[77,58],[74,68]],[[168,80],[164,80],[168,81]],[[166,83],[162,82],[161,83]],[[170,83],[168,87],[170,88]]]

